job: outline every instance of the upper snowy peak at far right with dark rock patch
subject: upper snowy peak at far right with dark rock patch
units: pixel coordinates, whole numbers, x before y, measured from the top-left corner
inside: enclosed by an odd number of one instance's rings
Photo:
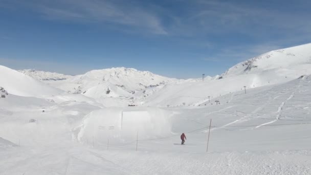
[[[270,51],[240,62],[221,76],[223,78],[241,74],[264,74],[270,71],[289,78],[310,74],[311,43],[306,45]]]

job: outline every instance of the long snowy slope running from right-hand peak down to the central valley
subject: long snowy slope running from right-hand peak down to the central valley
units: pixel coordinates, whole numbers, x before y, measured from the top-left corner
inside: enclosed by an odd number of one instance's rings
[[[217,100],[265,85],[279,84],[311,73],[311,43],[271,51],[236,64],[216,80],[166,84],[156,94],[144,99],[144,105],[189,106]]]

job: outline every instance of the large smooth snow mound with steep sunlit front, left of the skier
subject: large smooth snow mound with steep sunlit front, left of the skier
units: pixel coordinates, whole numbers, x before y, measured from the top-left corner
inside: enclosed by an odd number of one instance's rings
[[[171,134],[171,112],[153,107],[104,108],[86,115],[76,128],[79,142],[125,143]]]

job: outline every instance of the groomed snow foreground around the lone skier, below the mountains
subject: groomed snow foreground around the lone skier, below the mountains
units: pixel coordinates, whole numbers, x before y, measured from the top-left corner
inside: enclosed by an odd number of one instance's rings
[[[239,91],[204,107],[100,108],[9,95],[0,99],[0,174],[311,174],[310,82]]]

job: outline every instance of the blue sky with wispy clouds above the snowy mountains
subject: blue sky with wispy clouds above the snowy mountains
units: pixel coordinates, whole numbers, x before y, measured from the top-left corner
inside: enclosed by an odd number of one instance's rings
[[[0,64],[194,78],[311,42],[310,1],[0,0]]]

